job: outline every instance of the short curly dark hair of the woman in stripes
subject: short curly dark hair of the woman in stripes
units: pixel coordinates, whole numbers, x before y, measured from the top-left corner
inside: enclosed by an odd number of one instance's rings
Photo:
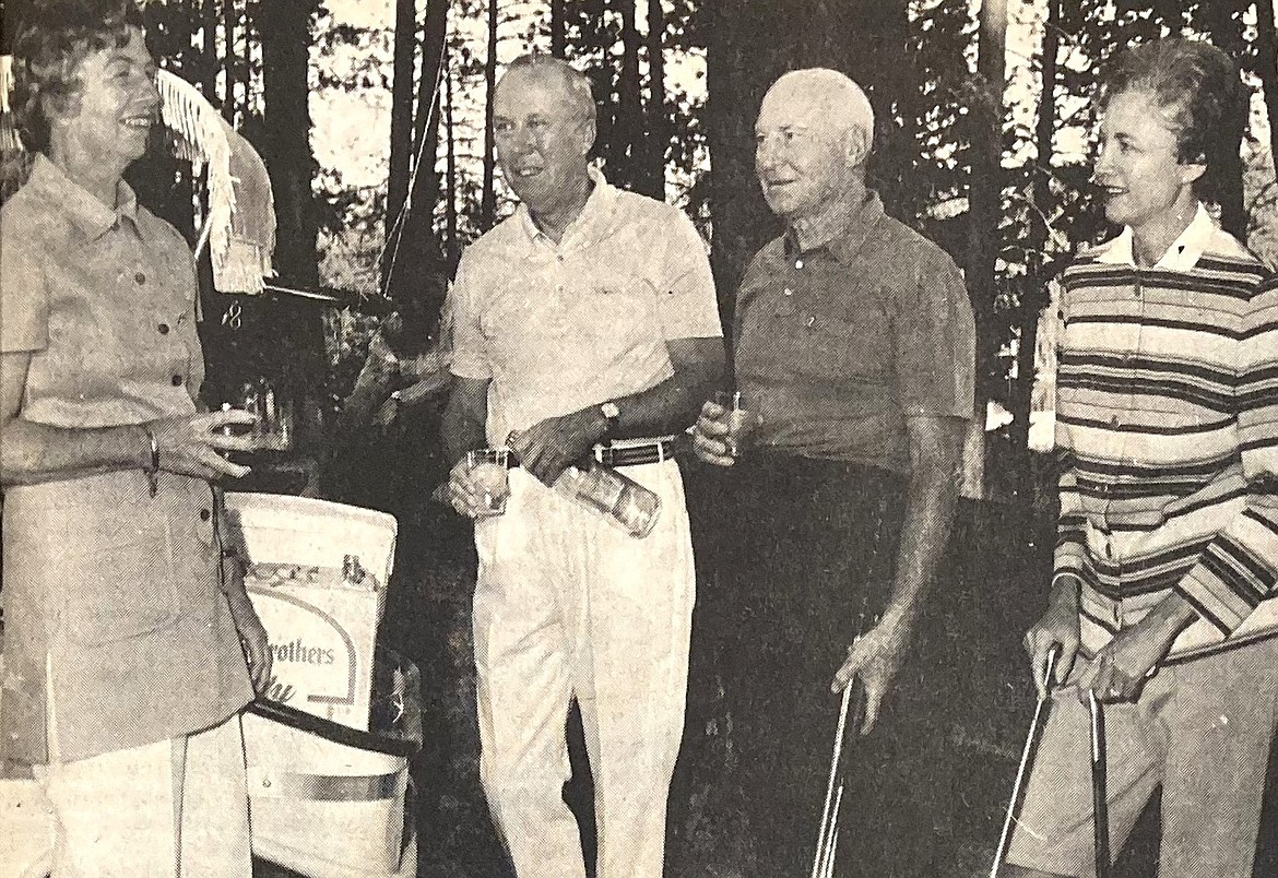
[[[1100,106],[1123,92],[1148,91],[1176,134],[1176,157],[1206,165],[1194,194],[1213,198],[1218,174],[1237,157],[1247,124],[1247,92],[1238,66],[1201,40],[1173,37],[1123,51],[1107,77]]]

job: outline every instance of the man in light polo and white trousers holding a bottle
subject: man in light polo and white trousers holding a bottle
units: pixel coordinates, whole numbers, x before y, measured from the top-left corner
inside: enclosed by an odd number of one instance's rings
[[[481,774],[520,878],[584,878],[562,799],[576,698],[594,774],[599,878],[659,878],[684,722],[693,551],[668,437],[723,368],[704,245],[676,208],[603,179],[589,81],[543,55],[495,95],[497,156],[520,198],[451,294],[451,459],[511,437],[502,515],[475,524]],[[665,438],[663,438],[665,437]],[[625,440],[625,451],[607,451]],[[589,455],[662,501],[642,539],[552,486]],[[479,510],[459,463],[454,506]]]

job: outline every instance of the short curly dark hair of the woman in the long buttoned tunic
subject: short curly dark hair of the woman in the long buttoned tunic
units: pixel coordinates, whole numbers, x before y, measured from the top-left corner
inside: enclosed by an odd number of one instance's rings
[[[12,4],[18,6],[17,3]],[[6,14],[13,35],[13,114],[28,150],[49,150],[49,116],[74,110],[88,55],[128,43],[144,31],[133,0],[27,0]]]

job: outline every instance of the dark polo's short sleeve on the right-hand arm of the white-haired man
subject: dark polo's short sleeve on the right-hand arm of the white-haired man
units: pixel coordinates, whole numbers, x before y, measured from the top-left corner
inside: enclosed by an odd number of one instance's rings
[[[971,419],[976,328],[962,276],[943,253],[921,258],[893,297],[896,391],[905,415]]]

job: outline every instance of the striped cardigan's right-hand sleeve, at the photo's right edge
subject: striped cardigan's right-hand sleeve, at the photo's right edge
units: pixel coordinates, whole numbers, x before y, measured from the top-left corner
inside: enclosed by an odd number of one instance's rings
[[[1278,580],[1278,279],[1261,285],[1238,341],[1238,445],[1247,500],[1177,584],[1223,634],[1274,594]]]

